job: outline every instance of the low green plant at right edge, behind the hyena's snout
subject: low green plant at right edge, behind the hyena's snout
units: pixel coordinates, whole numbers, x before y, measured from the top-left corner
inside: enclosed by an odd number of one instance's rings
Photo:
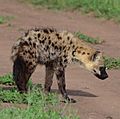
[[[120,58],[104,57],[108,69],[120,69]]]

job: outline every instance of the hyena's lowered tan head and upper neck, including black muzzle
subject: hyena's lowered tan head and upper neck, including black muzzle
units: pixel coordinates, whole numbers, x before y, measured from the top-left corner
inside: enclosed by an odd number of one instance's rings
[[[106,67],[104,65],[103,53],[100,51],[91,49],[86,50],[86,48],[81,50],[79,47],[76,50],[75,57],[78,62],[81,62],[82,66],[92,72],[97,78],[101,80],[108,78]]]

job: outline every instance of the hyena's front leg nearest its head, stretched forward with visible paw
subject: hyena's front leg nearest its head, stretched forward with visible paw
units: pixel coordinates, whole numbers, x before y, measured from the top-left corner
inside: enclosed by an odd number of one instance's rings
[[[58,81],[58,87],[59,87],[59,90],[60,90],[62,96],[68,102],[75,103],[76,101],[74,99],[72,99],[72,98],[69,98],[69,96],[67,94],[67,91],[66,91],[65,68],[58,67],[55,73],[56,73],[56,77],[57,77],[57,81]]]

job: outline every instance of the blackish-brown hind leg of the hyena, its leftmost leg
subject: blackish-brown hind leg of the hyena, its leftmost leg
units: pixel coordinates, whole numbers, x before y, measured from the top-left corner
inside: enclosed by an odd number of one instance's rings
[[[31,74],[27,71],[25,61],[19,56],[16,57],[13,62],[13,79],[21,93],[27,92],[26,85],[30,75]]]

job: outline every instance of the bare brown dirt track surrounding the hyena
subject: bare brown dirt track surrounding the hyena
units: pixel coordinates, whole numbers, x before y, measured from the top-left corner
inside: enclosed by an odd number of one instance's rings
[[[72,32],[81,31],[106,42],[96,45],[106,55],[120,57],[120,25],[95,19],[77,12],[58,12],[36,9],[16,0],[0,0],[0,15],[13,16],[0,25],[0,75],[12,71],[11,47],[24,29],[52,26]],[[88,71],[72,64],[66,69],[69,95],[77,100],[69,107],[78,111],[81,119],[120,119],[120,70],[108,71],[109,78],[98,80]],[[38,66],[33,74],[34,83],[44,84],[44,67]],[[56,80],[53,89],[57,90]]]

